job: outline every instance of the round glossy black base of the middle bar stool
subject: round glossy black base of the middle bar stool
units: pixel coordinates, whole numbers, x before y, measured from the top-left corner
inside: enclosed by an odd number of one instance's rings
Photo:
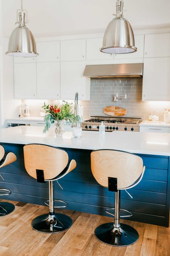
[[[55,213],[50,216],[49,214],[40,215],[31,223],[34,230],[41,233],[59,233],[67,230],[72,225],[72,219],[65,214]]]

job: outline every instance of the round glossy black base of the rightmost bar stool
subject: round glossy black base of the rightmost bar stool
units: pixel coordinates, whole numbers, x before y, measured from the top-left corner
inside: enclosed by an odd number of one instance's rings
[[[97,227],[95,236],[105,244],[118,247],[134,244],[139,239],[139,234],[133,227],[121,223],[120,227],[116,228],[113,222]]]

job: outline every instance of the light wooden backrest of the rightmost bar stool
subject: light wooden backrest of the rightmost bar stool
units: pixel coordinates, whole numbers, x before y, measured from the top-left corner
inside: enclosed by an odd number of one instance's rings
[[[141,157],[115,150],[96,150],[91,152],[91,171],[96,181],[108,187],[108,177],[117,178],[117,188],[131,186],[143,172]]]

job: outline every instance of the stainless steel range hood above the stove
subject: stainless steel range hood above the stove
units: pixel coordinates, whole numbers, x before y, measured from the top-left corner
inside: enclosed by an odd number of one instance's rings
[[[86,65],[83,76],[89,77],[142,77],[143,63]]]

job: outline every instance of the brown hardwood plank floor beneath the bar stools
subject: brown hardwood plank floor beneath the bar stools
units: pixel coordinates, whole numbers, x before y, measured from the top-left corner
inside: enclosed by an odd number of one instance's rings
[[[31,228],[31,220],[47,213],[48,207],[11,203],[14,212],[0,218],[0,256],[170,256],[170,228],[122,220],[136,228],[139,240],[127,247],[112,247],[94,236],[95,228],[112,221],[110,217],[59,210],[74,223],[69,230],[50,235]]]

